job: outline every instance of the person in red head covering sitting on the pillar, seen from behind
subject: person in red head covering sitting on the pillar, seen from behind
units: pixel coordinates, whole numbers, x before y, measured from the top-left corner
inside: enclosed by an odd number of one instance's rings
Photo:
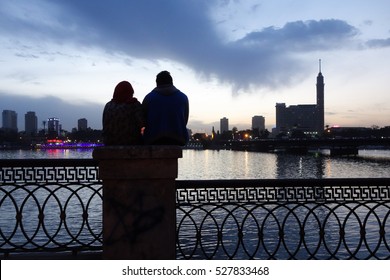
[[[141,103],[133,97],[128,81],[120,82],[103,111],[103,142],[105,145],[140,145],[145,126]]]

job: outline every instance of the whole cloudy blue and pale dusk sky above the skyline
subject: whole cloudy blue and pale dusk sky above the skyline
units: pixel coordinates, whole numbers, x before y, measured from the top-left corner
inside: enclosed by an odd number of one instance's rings
[[[325,81],[325,124],[390,125],[388,0],[0,0],[0,111],[18,128],[64,129],[129,81],[142,102],[168,70],[190,101],[193,132],[275,126],[275,104],[315,104]]]

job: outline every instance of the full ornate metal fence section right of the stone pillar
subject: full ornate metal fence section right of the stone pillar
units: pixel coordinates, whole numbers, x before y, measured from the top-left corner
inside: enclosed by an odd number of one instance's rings
[[[390,179],[181,181],[177,258],[389,259]]]

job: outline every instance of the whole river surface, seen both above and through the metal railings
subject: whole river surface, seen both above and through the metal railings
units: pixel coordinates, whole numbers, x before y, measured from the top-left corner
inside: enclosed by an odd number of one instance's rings
[[[40,158],[92,158],[92,149],[82,149],[82,150],[75,150],[75,149],[54,149],[54,150],[7,150],[7,151],[0,151],[0,159],[40,159]],[[356,157],[330,157],[329,151],[321,151],[317,153],[309,153],[304,155],[297,155],[297,154],[286,154],[286,153],[259,153],[259,152],[245,152],[245,151],[228,151],[228,150],[183,150],[183,157],[178,160],[179,164],[179,170],[178,170],[178,179],[179,180],[206,180],[206,179],[295,179],[295,178],[373,178],[373,177],[389,177],[390,174],[390,150],[361,150],[359,151],[359,155]],[[0,197],[1,199],[1,197]],[[31,199],[30,199],[31,200]],[[35,205],[32,203],[33,206]],[[26,204],[28,205],[28,204]],[[34,206],[37,208],[37,206]],[[34,208],[33,207],[33,208]],[[48,205],[47,208],[53,207],[53,210],[49,211],[49,214],[45,216],[45,221],[47,225],[53,224],[54,227],[58,227],[58,216],[59,216],[59,210],[57,209],[58,206],[53,204],[53,206]],[[214,206],[216,207],[216,206]],[[251,206],[251,207],[259,207],[259,206]],[[301,208],[304,208],[305,211],[307,211],[307,205],[301,205]],[[317,206],[314,206],[317,207]],[[344,206],[343,206],[344,207]],[[343,207],[339,207],[338,211],[345,210]],[[361,206],[360,208],[366,207],[365,205]],[[384,206],[383,206],[384,207]],[[8,199],[2,203],[2,217],[0,217],[0,228],[3,233],[10,234],[13,230],[13,228],[16,226],[16,222],[14,221],[15,217],[15,207],[13,206],[12,202]],[[27,209],[27,207],[25,207]],[[35,209],[34,208],[34,209]],[[69,207],[78,209],[77,205],[75,207]],[[222,209],[223,208],[223,209]],[[215,244],[216,236],[216,230],[219,228],[221,229],[221,234],[225,236],[225,238],[228,239],[228,243],[224,243],[224,249],[220,246],[215,257],[216,258],[225,258],[224,252],[227,248],[229,250],[229,246],[231,246],[233,249],[236,248],[235,244],[240,244],[239,241],[237,241],[237,227],[238,222],[234,220],[232,222],[232,225],[230,225],[230,220],[233,219],[233,215],[230,213],[226,214],[225,207],[222,207],[221,209],[216,207],[214,210],[210,210],[210,213],[213,213],[213,218],[211,218],[210,215],[206,215],[203,213],[204,210],[202,208],[199,208],[198,211],[194,211],[193,209],[190,209],[191,211],[191,223],[190,226],[192,226],[192,223],[196,221],[198,224],[198,227],[203,226],[202,230],[202,250],[208,250],[213,251],[215,250]],[[259,223],[252,221],[250,217],[259,216],[263,217],[265,216],[264,213],[257,213],[256,211],[260,211],[262,208],[259,209],[249,209],[246,210],[251,213],[248,219],[244,218],[243,221],[240,221],[240,227],[243,229],[245,228],[244,235],[245,238],[243,240],[243,244],[246,242],[249,242],[247,244],[247,248],[256,248],[255,242],[252,244],[252,241],[250,240],[252,235],[254,235],[253,240],[257,240],[257,236],[264,231],[264,248],[266,246],[269,246],[269,248],[273,248],[273,246],[276,246],[277,240],[274,238],[280,234],[280,230],[276,227],[278,224],[276,221],[270,219],[269,221],[263,221],[261,229],[259,228]],[[359,209],[360,209],[359,208]],[[69,209],[65,209],[65,211],[69,211]],[[183,210],[184,208],[182,208]],[[237,210],[238,209],[238,210]],[[241,208],[237,208],[234,211],[239,211]],[[298,209],[298,208],[297,208]],[[296,210],[297,210],[296,209]],[[299,208],[300,209],[300,208]],[[299,210],[298,209],[298,210]],[[316,208],[317,209],[317,208]],[[349,208],[348,208],[349,209]],[[347,209],[347,210],[348,210]],[[358,209],[358,210],[359,210]],[[9,210],[9,211],[8,211]],[[283,209],[282,209],[283,210]],[[322,212],[326,212],[326,209],[323,211],[323,209],[318,208],[317,210],[321,210]],[[312,214],[314,214],[314,211],[312,210]],[[329,210],[329,209],[328,209]],[[348,211],[344,212],[348,212]],[[356,210],[356,212],[358,212]],[[376,215],[379,215],[378,217],[381,217],[381,220],[383,219],[382,216],[386,216],[386,213],[388,212],[388,208],[384,207],[384,209],[376,209]],[[27,211],[27,210],[24,210]],[[37,211],[35,209],[35,211]],[[224,212],[225,211],[225,212]],[[321,212],[320,211],[320,212]],[[332,210],[333,211],[333,210]],[[342,211],[342,212],[343,212]],[[360,210],[359,210],[360,211]],[[365,210],[366,211],[366,210]],[[9,212],[9,213],[7,213]],[[58,212],[58,213],[57,213]],[[198,213],[199,212],[199,213]],[[322,213],[321,212],[321,213]],[[342,215],[346,215],[345,213],[342,213]],[[366,211],[367,212],[367,211]],[[95,233],[98,233],[101,231],[101,201],[99,200],[96,202],[96,205],[90,206],[90,209],[88,209],[88,213],[91,216],[95,215],[95,226],[92,225],[93,231]],[[245,214],[244,213],[244,214]],[[268,212],[267,212],[268,213]],[[272,212],[273,213],[273,212]],[[320,213],[320,214],[321,214]],[[332,212],[333,213],[333,212]],[[235,218],[239,217],[242,213],[235,213]],[[258,215],[257,215],[258,214]],[[279,213],[280,214],[280,213]],[[279,215],[278,214],[278,215]],[[315,216],[317,219],[321,215]],[[328,213],[329,214],[329,213]],[[181,212],[177,213],[178,218],[182,216]],[[228,216],[226,216],[228,215]],[[280,214],[281,215],[281,214]],[[322,213],[324,215],[324,213]],[[25,213],[25,216],[30,216],[31,213],[28,215],[28,213]],[[39,221],[38,221],[38,215],[33,215],[35,219],[28,219],[23,221],[23,225],[28,229],[37,228]],[[53,216],[53,221],[49,221],[48,219],[51,216]],[[219,216],[221,216],[219,218]],[[242,216],[242,215],[241,215]],[[245,216],[245,215],[244,215]],[[285,227],[283,228],[283,231],[289,232],[289,236],[293,239],[291,241],[292,243],[296,243],[299,241],[299,238],[297,238],[298,241],[296,241],[294,238],[299,236],[299,232],[296,232],[297,229],[299,229],[299,226],[297,225],[297,221],[300,219],[304,219],[306,216],[302,215],[302,217],[298,214],[297,216],[293,216],[293,219],[287,220],[289,218],[289,215],[285,215]],[[368,215],[369,216],[369,215]],[[367,216],[367,217],[368,217]],[[371,215],[372,216],[372,215]],[[10,218],[11,217],[11,218]],[[48,218],[49,217],[49,218]],[[189,217],[189,216],[188,216]],[[227,219],[226,217],[230,217]],[[245,216],[246,217],[246,216]],[[272,214],[271,217],[277,217],[277,215]],[[291,219],[291,217],[289,219]],[[355,219],[355,216],[351,216],[353,219]],[[376,216],[377,217],[377,216]],[[378,241],[378,232],[379,232],[379,225],[378,225],[378,219],[374,218],[368,220],[367,224],[365,225],[365,230],[367,231],[367,236],[369,234],[373,234],[374,237],[370,238],[370,242],[373,242],[374,245],[366,245],[367,247],[374,247],[376,244],[380,244],[378,246],[378,252],[377,255],[379,255],[381,258],[385,258],[388,255],[387,247],[383,244],[383,240]],[[338,238],[338,231],[340,227],[340,221],[335,222],[333,221],[333,214],[329,214],[326,218],[327,220],[323,222],[324,230],[326,229],[326,232],[331,232],[330,228],[335,227],[334,232],[330,234],[330,237],[324,237],[324,243],[330,244],[328,246],[333,246],[334,244],[337,244]],[[353,220],[350,219],[350,220]],[[356,236],[351,236],[349,240],[352,240],[353,242],[358,242],[360,240],[360,232],[361,229],[359,228],[359,223],[356,223],[354,221],[353,223],[350,222],[350,220],[345,220],[345,229],[348,229],[349,234],[354,234]],[[67,218],[66,221],[68,225],[72,225],[70,228],[71,231],[73,231],[73,227],[75,228],[74,231],[78,232],[79,228],[78,223],[80,223],[80,219],[78,216],[76,218],[71,217],[71,213],[67,212]],[[313,224],[313,226],[319,226],[318,224],[319,220],[314,220],[314,223],[307,222],[307,224]],[[317,222],[317,224],[316,224]],[[210,223],[210,229],[207,227]],[[349,223],[351,223],[350,227],[356,227],[354,230],[351,230],[348,228]],[[382,224],[385,225],[386,222],[382,221]],[[256,227],[257,225],[257,227]],[[357,225],[357,226],[356,226]],[[197,248],[195,251],[195,254],[193,255],[194,258],[202,258],[202,252],[198,254],[198,251],[200,251],[199,247],[197,247],[197,239],[195,236],[192,236],[191,234],[191,228],[187,231],[185,224],[182,225],[181,231],[179,233],[179,239],[181,240],[181,246],[182,250],[184,252],[192,252]],[[305,228],[306,230],[306,228]],[[226,231],[226,232],[225,232]],[[65,230],[62,228],[60,233],[57,237],[60,236],[64,232],[64,240],[68,242],[67,240],[69,237],[66,234]],[[229,234],[232,232],[232,237],[229,238]],[[318,228],[314,229],[314,232],[318,232]],[[295,234],[294,234],[295,233]],[[31,235],[34,234],[31,233]],[[184,234],[184,237],[183,237]],[[252,235],[251,235],[252,234]],[[27,230],[27,235],[30,235],[29,230]],[[317,234],[318,235],[318,234]],[[313,248],[316,248],[319,244],[319,237],[317,235],[314,235],[312,238],[305,237],[305,241],[307,242],[307,246],[311,246]],[[328,234],[329,235],[329,234]],[[85,238],[89,238],[90,234],[87,233]],[[267,237],[268,236],[268,237]],[[310,236],[309,233],[306,234],[306,236]],[[81,237],[80,237],[81,238]],[[290,238],[290,239],[291,239]],[[333,238],[336,238],[333,240]],[[0,241],[4,241],[1,240]],[[268,240],[269,239],[269,240]],[[275,240],[273,240],[275,239]],[[249,240],[249,241],[248,241]],[[287,239],[286,239],[287,240]],[[295,240],[295,241],[294,241]],[[26,241],[26,238],[22,234],[17,234],[12,238],[12,242],[15,242],[16,244],[24,243]],[[45,234],[40,230],[39,234],[37,234],[34,237],[34,241],[37,243],[44,243],[47,242],[47,238]],[[326,241],[326,242],[325,242]],[[290,241],[286,241],[290,242]],[[291,243],[290,242],[290,243]],[[195,245],[194,245],[195,244]],[[229,245],[230,244],[230,245]],[[239,253],[237,253],[238,258],[240,258],[240,252],[243,252],[243,244],[240,245]],[[268,245],[266,245],[268,244]],[[288,244],[286,243],[286,246]],[[294,244],[292,246],[295,246]],[[260,250],[262,253],[265,252],[264,248]],[[321,245],[319,252],[325,251],[324,244]],[[252,250],[250,249],[250,250]],[[346,249],[341,250],[340,254],[343,254],[346,251]],[[367,253],[367,250],[364,252]],[[242,258],[246,258],[246,255],[243,254]],[[262,258],[266,256],[257,255],[256,257]],[[286,255],[277,256],[280,258],[286,258]],[[302,257],[303,259],[307,258],[307,255],[297,255],[297,257]],[[319,258],[327,258],[327,255],[324,254],[323,256],[318,254],[317,257]],[[337,255],[337,257],[343,258],[343,255]]]

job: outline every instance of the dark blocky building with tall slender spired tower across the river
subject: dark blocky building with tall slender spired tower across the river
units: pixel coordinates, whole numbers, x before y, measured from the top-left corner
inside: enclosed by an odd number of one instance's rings
[[[324,131],[324,77],[321,73],[321,60],[317,76],[317,104],[292,105],[276,103],[275,132],[289,134],[301,131],[308,135],[321,135]]]

